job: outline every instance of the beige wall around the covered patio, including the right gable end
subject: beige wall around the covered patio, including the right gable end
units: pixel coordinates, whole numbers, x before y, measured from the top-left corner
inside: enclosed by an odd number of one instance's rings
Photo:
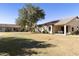
[[[75,18],[75,19],[71,20],[70,22],[68,22],[65,25],[68,26],[68,33],[73,32],[72,27],[74,28],[74,31],[77,31],[79,29],[79,19]],[[57,26],[55,25],[53,32],[56,33],[58,31],[61,31],[61,26],[64,26],[64,25],[57,25]]]

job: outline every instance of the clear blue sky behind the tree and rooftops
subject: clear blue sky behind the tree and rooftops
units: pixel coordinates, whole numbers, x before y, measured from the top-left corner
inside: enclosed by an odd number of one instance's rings
[[[0,3],[0,23],[15,23],[18,17],[18,10],[23,7],[21,3]],[[79,4],[62,4],[62,3],[40,3],[34,4],[44,9],[45,19],[39,21],[38,24],[61,19],[70,16],[79,16]]]

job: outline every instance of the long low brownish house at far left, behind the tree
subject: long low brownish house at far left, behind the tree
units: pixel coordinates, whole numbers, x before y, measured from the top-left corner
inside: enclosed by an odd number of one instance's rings
[[[0,24],[0,32],[19,32],[20,28],[16,24]]]

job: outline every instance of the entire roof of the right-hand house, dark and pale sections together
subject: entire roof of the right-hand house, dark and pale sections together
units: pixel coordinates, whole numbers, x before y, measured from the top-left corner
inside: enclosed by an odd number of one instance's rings
[[[39,24],[38,26],[40,26],[40,25],[51,25],[51,24],[64,25],[64,24],[67,24],[68,22],[70,22],[71,20],[73,20],[75,18],[79,18],[79,17],[74,16],[74,17],[69,17],[69,18],[63,18],[63,19],[60,19],[60,20],[55,20],[55,21],[44,23],[44,24]]]

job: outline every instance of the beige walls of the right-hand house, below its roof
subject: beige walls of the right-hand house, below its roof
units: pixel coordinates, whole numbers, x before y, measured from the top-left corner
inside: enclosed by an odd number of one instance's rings
[[[68,33],[72,33],[72,27],[74,28],[74,31],[77,31],[77,29],[79,28],[79,19],[75,18],[75,19],[71,20],[70,22],[68,22],[67,24],[64,24],[64,25],[68,26]],[[56,33],[57,31],[61,31],[61,26],[64,26],[64,25],[60,25],[60,26],[43,25],[40,28],[40,30],[41,31],[47,30],[49,33]],[[51,27],[51,31],[49,31],[49,27]]]

